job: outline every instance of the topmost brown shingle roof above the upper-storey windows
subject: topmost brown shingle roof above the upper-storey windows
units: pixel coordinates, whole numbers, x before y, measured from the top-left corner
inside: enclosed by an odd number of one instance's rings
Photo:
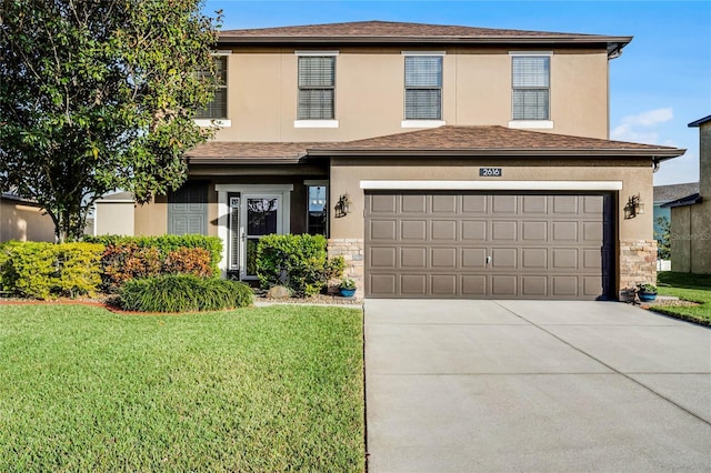
[[[619,51],[632,37],[602,34],[560,33],[549,31],[508,30],[448,24],[407,23],[393,21],[354,21],[347,23],[308,24],[296,27],[224,30],[220,42],[273,43],[273,42],[582,42],[607,43],[608,50]]]

